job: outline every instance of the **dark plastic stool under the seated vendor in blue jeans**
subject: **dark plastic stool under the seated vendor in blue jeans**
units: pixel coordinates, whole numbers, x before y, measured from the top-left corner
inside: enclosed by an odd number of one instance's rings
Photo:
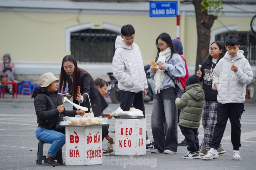
[[[37,158],[36,158],[36,163],[38,165],[42,165],[42,161],[44,161],[46,158],[46,155],[43,155],[44,144],[45,144],[45,142],[43,142],[42,140],[38,141]],[[57,163],[63,164],[61,149],[57,152],[56,156],[53,159],[57,160]]]

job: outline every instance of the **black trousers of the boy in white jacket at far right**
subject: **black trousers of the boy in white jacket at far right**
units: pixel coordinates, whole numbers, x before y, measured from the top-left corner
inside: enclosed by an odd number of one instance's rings
[[[244,103],[218,103],[217,123],[213,131],[211,148],[218,149],[223,137],[227,121],[231,124],[231,142],[234,150],[241,147],[241,115],[244,112]]]

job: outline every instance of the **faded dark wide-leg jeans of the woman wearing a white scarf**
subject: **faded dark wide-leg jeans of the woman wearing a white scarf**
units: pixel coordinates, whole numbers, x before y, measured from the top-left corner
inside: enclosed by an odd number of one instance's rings
[[[177,151],[178,147],[178,108],[175,105],[177,93],[173,87],[154,94],[151,127],[154,147],[159,151]]]

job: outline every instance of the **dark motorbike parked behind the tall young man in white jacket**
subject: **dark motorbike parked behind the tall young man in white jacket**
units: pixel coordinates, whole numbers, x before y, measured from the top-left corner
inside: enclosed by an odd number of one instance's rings
[[[146,78],[148,82],[148,88],[147,88],[147,95],[144,98],[144,102],[153,101],[154,98],[154,81],[150,78],[150,65],[144,66],[144,71],[146,73]],[[112,103],[120,103],[120,94],[119,94],[119,88],[117,87],[118,81],[114,77],[112,72],[107,73],[109,75],[110,81],[109,86],[107,87],[107,93],[108,96],[110,96],[110,99]]]

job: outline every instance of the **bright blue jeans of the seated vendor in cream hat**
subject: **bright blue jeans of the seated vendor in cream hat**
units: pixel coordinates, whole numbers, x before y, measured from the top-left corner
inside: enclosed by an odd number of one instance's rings
[[[65,134],[55,130],[48,130],[44,128],[36,128],[36,138],[46,143],[51,143],[47,155],[55,157],[56,153],[63,147],[66,142]]]

